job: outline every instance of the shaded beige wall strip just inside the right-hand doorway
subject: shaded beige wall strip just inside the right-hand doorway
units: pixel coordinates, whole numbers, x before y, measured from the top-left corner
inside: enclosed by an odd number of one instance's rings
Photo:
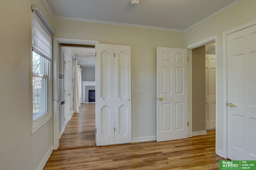
[[[192,50],[193,132],[205,130],[205,46]]]

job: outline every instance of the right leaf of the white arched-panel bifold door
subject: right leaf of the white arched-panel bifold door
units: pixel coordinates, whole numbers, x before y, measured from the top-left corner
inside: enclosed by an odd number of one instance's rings
[[[132,140],[131,47],[114,45],[115,144]]]

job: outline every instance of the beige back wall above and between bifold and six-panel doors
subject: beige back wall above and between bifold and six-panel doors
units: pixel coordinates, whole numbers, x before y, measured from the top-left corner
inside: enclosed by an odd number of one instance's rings
[[[184,48],[184,33],[54,19],[58,38],[130,45],[132,138],[156,136],[156,47]]]

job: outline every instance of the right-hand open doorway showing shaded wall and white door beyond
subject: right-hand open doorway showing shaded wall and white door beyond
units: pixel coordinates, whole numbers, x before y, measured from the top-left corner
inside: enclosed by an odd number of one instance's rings
[[[216,128],[215,42],[192,49],[193,136]]]

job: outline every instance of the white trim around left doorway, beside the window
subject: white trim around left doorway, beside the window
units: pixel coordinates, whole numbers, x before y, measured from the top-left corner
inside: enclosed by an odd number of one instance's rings
[[[96,45],[98,40],[81,40],[70,38],[54,38],[53,41],[53,149],[57,150],[59,147],[59,43],[82,44],[82,45]]]

